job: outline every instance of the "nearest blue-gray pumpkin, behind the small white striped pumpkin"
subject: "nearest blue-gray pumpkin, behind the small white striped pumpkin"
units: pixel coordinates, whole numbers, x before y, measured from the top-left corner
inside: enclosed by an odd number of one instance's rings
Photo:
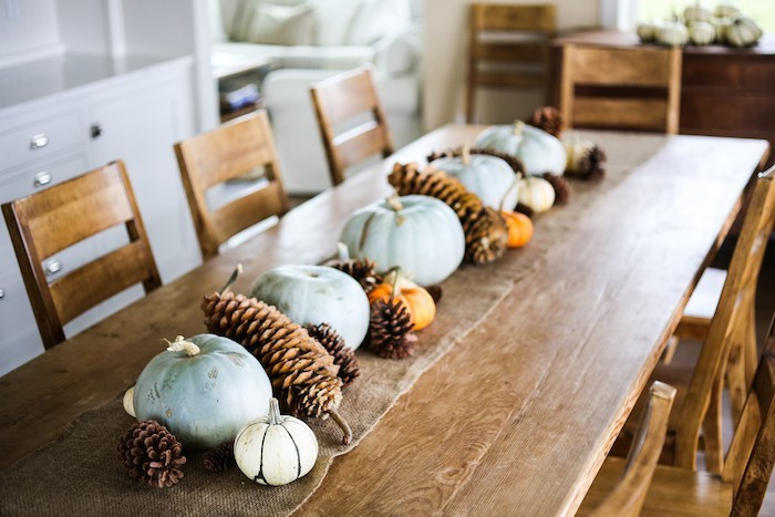
[[[177,337],[134,387],[137,420],[156,420],[186,447],[215,448],[269,410],[271,383],[241,345],[214,334]]]

